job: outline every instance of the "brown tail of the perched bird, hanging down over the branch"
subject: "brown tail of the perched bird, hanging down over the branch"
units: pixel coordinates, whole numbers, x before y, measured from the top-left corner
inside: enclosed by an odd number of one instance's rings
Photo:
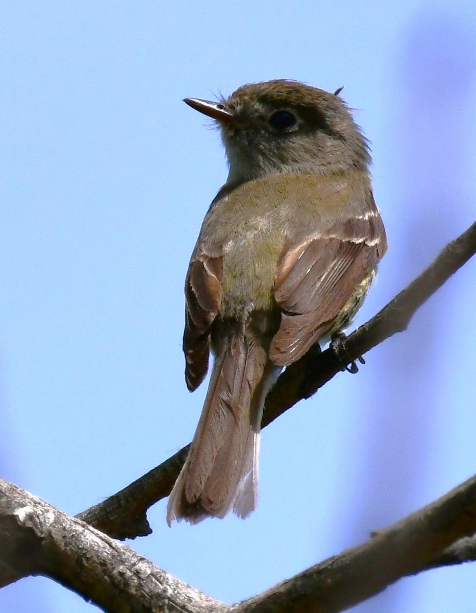
[[[187,461],[169,497],[167,522],[233,511],[247,517],[258,496],[258,451],[264,398],[275,367],[255,338],[235,332],[215,359]]]

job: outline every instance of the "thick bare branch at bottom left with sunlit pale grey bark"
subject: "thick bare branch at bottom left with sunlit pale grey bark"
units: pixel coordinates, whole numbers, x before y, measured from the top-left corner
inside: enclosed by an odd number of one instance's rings
[[[0,479],[0,587],[42,574],[111,613],[222,613],[229,607],[130,547]]]

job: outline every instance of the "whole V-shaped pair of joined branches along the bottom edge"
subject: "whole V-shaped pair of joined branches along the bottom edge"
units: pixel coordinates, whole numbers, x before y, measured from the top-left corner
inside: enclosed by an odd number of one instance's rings
[[[404,576],[475,557],[476,476],[373,538],[231,607],[0,479],[0,587],[43,574],[111,613],[338,613]]]

